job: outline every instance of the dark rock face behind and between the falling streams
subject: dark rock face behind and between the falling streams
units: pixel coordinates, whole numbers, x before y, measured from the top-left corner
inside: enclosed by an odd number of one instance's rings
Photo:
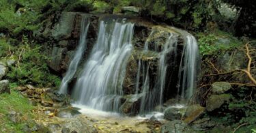
[[[132,10],[132,9],[126,9]],[[133,10],[132,10],[133,12]],[[137,12],[137,9],[136,9]],[[180,30],[173,27],[168,27],[167,25],[157,25],[155,23],[143,20],[143,18],[138,18],[136,16],[127,15],[109,15],[109,14],[83,14],[80,12],[62,12],[61,14],[55,14],[49,18],[48,21],[44,23],[44,28],[39,31],[35,31],[34,35],[38,40],[48,40],[45,42],[45,52],[50,55],[50,61],[48,61],[48,66],[55,73],[63,76],[68,70],[68,65],[70,59],[74,56],[74,51],[76,46],[79,44],[79,35],[81,29],[81,18],[82,16],[87,16],[90,25],[87,33],[87,49],[81,58],[80,65],[74,74],[73,80],[70,82],[70,88],[74,85],[76,77],[80,74],[83,64],[89,57],[91,48],[96,43],[97,33],[98,33],[98,23],[102,19],[124,19],[128,22],[134,23],[134,35],[132,38],[132,44],[134,46],[134,52],[128,60],[128,67],[126,67],[126,74],[124,75],[124,82],[122,84],[122,89],[124,95],[134,95],[135,85],[137,82],[137,72],[139,61],[141,64],[150,64],[149,76],[150,76],[150,86],[154,86],[156,82],[158,61],[160,58],[160,52],[165,46],[165,42],[169,39],[170,35],[177,37],[177,63],[173,63],[173,55],[168,55],[167,57],[167,80],[170,82],[177,83],[177,72],[180,66],[180,56],[183,50],[183,37]],[[147,43],[146,43],[147,42]],[[145,53],[145,44],[148,45],[148,51]],[[173,73],[171,73],[174,71]],[[143,77],[142,71],[139,74],[139,91],[142,89]],[[174,81],[173,81],[174,80]],[[174,84],[166,85],[166,90],[168,88],[177,88]],[[169,89],[169,91],[176,89]],[[170,92],[167,93],[170,93]],[[176,90],[177,91],[177,90]],[[174,95],[165,95],[165,97],[171,98]],[[123,113],[130,114],[130,108],[138,104],[139,99],[130,101],[128,99],[124,100],[124,105],[121,110]],[[41,103],[44,104],[44,103]],[[46,103],[45,103],[46,105]],[[48,105],[53,106],[53,105]],[[138,105],[136,105],[138,106]],[[136,111],[135,111],[136,112]]]

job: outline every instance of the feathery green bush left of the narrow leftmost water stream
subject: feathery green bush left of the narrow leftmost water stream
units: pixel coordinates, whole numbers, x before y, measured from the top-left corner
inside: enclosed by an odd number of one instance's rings
[[[61,80],[50,73],[46,61],[48,58],[42,53],[39,45],[29,46],[26,37],[23,43],[18,45],[16,57],[17,63],[8,73],[8,78],[19,85],[32,84],[40,87],[58,87]]]

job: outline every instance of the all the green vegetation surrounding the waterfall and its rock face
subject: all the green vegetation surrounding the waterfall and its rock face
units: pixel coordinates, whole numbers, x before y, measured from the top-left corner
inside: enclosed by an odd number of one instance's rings
[[[134,8],[127,13],[123,8],[126,6]],[[49,26],[53,27],[61,12],[142,16],[154,23],[181,27],[197,38],[201,74],[195,99],[201,106],[207,106],[206,101],[212,95],[212,99],[229,96],[229,100],[223,100],[225,102],[219,108],[206,112],[203,117],[225,125],[221,129],[228,132],[255,132],[255,6],[255,1],[249,0],[2,0],[0,61],[15,62],[9,66],[10,72],[4,78],[16,85],[59,87],[60,77],[47,65],[51,58],[44,51],[48,46],[44,42],[48,40],[39,40],[35,34],[46,26],[47,20],[53,21]],[[236,16],[222,14],[223,7],[235,12]],[[56,43],[54,40],[49,42]],[[231,89],[217,95],[212,92],[212,84],[216,82],[227,82]],[[0,95],[0,106],[0,122],[3,123],[0,128],[6,132],[23,130],[23,122],[33,117],[33,106],[13,89],[11,95]],[[7,116],[11,110],[23,114],[22,120],[11,121]],[[214,128],[213,132],[220,130]]]

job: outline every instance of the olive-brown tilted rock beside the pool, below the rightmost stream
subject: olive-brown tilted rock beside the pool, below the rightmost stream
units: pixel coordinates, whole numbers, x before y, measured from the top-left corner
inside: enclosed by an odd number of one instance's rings
[[[205,108],[200,106],[200,104],[193,104],[186,108],[186,113],[184,115],[184,121],[186,123],[191,123],[203,115]]]

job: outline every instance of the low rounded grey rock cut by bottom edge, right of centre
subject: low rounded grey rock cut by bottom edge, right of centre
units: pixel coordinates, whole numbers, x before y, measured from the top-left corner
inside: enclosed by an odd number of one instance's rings
[[[190,129],[187,127],[187,124],[181,120],[174,120],[165,123],[165,125],[161,126],[161,132],[165,133],[182,133],[189,132]]]

